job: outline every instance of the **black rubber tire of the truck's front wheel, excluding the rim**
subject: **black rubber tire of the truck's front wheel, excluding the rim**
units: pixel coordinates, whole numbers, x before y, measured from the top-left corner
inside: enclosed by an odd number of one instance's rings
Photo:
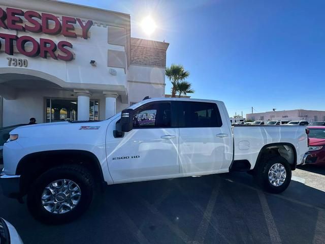
[[[54,214],[45,209],[42,204],[42,194],[53,181],[68,179],[75,182],[80,191],[79,202],[69,212]],[[94,180],[89,171],[79,165],[67,165],[52,168],[40,175],[29,188],[27,207],[31,215],[45,224],[62,224],[80,217],[89,207],[94,195]]]

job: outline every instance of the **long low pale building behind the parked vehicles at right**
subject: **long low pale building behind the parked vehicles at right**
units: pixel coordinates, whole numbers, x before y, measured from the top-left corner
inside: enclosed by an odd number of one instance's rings
[[[317,110],[282,110],[270,111],[264,113],[248,113],[247,120],[307,120],[309,123],[313,121],[325,121],[325,111]]]

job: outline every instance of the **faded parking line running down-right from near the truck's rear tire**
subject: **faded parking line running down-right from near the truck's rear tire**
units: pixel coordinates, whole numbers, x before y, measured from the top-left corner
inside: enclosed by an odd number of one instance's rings
[[[261,201],[262,205],[262,210],[264,213],[265,221],[268,226],[270,238],[271,238],[271,243],[276,244],[276,243],[281,243],[280,235],[279,232],[276,228],[268,201],[266,200],[265,194],[261,191],[257,191],[259,201]]]

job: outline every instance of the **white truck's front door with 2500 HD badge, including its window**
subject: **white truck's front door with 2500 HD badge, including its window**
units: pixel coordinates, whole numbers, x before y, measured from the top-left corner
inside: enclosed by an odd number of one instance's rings
[[[179,131],[173,114],[171,102],[151,102],[135,110],[134,128],[123,137],[108,131],[107,160],[114,182],[179,173]]]

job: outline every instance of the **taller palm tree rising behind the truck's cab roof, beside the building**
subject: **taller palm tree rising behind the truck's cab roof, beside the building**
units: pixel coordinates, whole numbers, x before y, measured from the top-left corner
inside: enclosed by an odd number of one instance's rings
[[[182,65],[172,64],[171,67],[166,68],[165,75],[172,82],[172,98],[175,98],[178,82],[186,79],[189,76],[189,72]]]

